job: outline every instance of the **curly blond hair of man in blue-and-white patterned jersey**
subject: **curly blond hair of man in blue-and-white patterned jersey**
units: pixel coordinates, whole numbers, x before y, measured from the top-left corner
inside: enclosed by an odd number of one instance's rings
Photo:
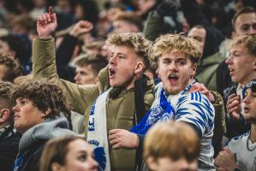
[[[197,40],[181,34],[165,34],[156,39],[153,55],[158,58],[170,52],[182,52],[190,57],[193,63],[198,63],[203,50]]]

